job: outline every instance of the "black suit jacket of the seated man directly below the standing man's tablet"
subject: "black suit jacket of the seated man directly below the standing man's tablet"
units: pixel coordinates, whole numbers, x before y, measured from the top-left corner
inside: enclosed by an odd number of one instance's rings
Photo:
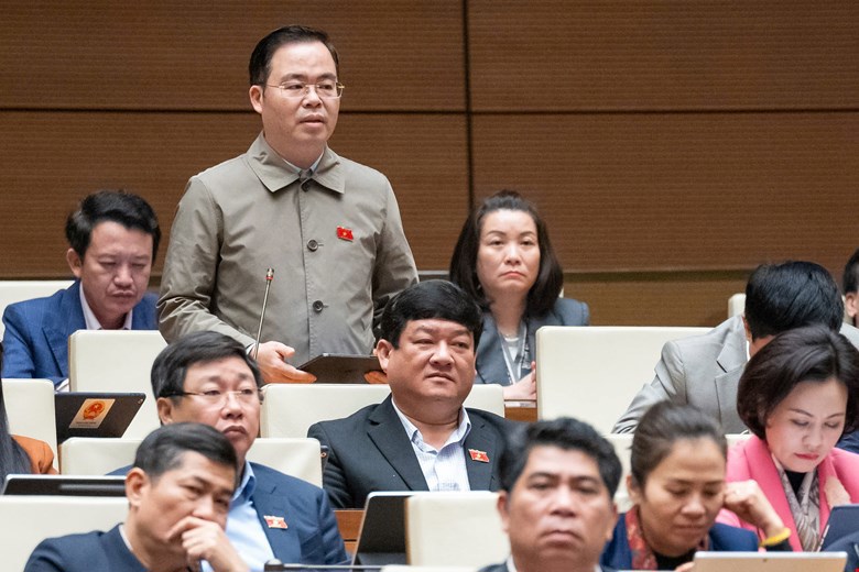
[[[472,491],[498,491],[498,461],[514,424],[479,409],[467,411],[471,431],[465,447],[489,457],[488,463],[466,457],[468,482]],[[345,419],[318,422],[307,436],[328,446],[323,487],[335,508],[363,508],[374,491],[430,490],[391,396]]]

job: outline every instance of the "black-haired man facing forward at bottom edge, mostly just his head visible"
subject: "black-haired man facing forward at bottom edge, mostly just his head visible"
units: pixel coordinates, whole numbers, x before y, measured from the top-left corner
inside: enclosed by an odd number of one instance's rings
[[[498,496],[510,558],[480,572],[609,572],[599,558],[620,475],[615,449],[587,424],[562,417],[514,432]]]

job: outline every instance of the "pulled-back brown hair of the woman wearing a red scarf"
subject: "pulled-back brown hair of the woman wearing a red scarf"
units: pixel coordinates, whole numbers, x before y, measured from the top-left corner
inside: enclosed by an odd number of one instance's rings
[[[660,402],[641,417],[632,437],[630,474],[641,488],[659,464],[671,454],[679,440],[710,439],[727,458],[728,442],[721,426],[691,405]]]

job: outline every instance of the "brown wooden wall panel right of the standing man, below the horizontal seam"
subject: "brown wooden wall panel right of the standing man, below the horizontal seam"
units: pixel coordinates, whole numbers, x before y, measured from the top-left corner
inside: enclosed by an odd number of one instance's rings
[[[568,270],[835,268],[859,240],[858,133],[838,112],[478,116],[475,189],[525,191]]]

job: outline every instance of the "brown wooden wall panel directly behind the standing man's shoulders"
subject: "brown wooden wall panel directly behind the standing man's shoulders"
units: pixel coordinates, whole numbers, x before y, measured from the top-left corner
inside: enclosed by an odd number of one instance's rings
[[[0,112],[0,276],[64,276],[65,217],[98,188],[142,195],[167,231],[188,177],[258,130],[253,113]],[[389,176],[422,267],[447,265],[467,212],[465,145],[464,119],[439,114],[341,117],[333,141]]]

